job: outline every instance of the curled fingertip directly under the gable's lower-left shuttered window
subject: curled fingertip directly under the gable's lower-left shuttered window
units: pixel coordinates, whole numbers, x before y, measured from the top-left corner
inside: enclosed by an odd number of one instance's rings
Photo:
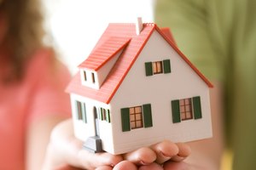
[[[150,148],[144,147],[124,155],[124,159],[136,165],[148,165],[155,161],[156,155]]]

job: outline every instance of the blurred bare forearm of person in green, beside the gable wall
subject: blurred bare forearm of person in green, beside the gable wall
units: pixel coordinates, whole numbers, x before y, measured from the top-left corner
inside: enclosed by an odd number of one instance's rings
[[[224,151],[224,127],[222,111],[222,88],[214,82],[210,92],[212,108],[212,138],[189,143],[191,155],[187,162],[201,165],[207,169],[219,169]]]

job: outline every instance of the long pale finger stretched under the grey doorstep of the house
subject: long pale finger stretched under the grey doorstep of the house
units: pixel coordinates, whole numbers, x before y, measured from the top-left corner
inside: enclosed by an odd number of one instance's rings
[[[114,167],[123,160],[122,156],[114,156],[108,152],[94,154],[87,150],[79,150],[78,157],[82,167],[88,169],[95,169],[101,166]]]

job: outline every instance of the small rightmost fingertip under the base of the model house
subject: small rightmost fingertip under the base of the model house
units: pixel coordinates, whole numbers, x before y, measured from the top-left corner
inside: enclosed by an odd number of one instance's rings
[[[190,155],[191,149],[188,144],[177,143],[177,147],[178,147],[177,156],[172,156],[172,159],[171,159],[172,161],[183,161]]]

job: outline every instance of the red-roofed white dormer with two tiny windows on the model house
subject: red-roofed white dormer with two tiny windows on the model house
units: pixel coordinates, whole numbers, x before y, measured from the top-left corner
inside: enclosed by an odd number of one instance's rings
[[[82,85],[100,89],[131,37],[108,37],[79,65]]]

